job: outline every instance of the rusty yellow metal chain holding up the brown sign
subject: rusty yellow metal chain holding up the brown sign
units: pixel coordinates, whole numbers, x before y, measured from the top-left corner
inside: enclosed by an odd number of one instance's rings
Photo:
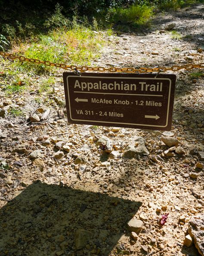
[[[19,60],[19,61],[28,61],[31,63],[35,64],[44,64],[46,66],[51,66],[51,67],[59,67],[67,70],[79,70],[80,72],[83,71],[98,71],[98,72],[104,72],[104,71],[109,71],[112,73],[115,72],[123,72],[123,73],[146,73],[146,72],[165,72],[168,70],[172,71],[178,71],[180,69],[185,69],[185,70],[191,70],[193,68],[204,68],[204,63],[198,63],[198,64],[185,64],[183,66],[172,66],[172,67],[139,67],[138,69],[134,67],[88,67],[88,66],[75,66],[75,65],[66,65],[62,63],[53,63],[51,61],[40,61],[37,59],[31,59],[31,58],[25,58],[24,56],[16,56],[14,54],[10,53],[5,53],[3,51],[0,51],[0,55],[2,55],[5,58],[10,58],[12,60]]]

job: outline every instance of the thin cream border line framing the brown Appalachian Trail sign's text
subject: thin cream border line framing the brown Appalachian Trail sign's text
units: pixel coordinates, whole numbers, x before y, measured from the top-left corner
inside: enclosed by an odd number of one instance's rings
[[[146,125],[146,124],[133,124],[133,123],[121,123],[121,122],[107,122],[107,121],[96,121],[96,120],[84,120],[84,119],[73,119],[71,117],[71,104],[70,104],[70,96],[69,96],[69,86],[68,86],[68,78],[69,77],[77,77],[77,76],[68,76],[67,77],[67,91],[68,91],[68,99],[69,99],[69,113],[70,113],[70,118],[71,120],[73,121],[84,121],[84,122],[97,122],[97,123],[107,123],[107,124],[120,124],[120,125],[138,125],[138,126],[150,126],[150,127],[167,127],[168,125],[168,119],[169,119],[169,105],[170,105],[170,91],[171,91],[171,80],[169,78],[154,78],[154,77],[151,77],[151,78],[148,78],[148,77],[125,77],[125,79],[144,79],[144,80],[152,80],[152,79],[155,79],[155,80],[169,80],[169,96],[168,96],[168,105],[167,105],[167,119],[166,119],[166,125]],[[80,77],[84,77],[84,78],[106,78],[106,79],[122,79],[122,77],[92,77],[92,76],[80,76]],[[81,93],[81,92],[80,92]],[[86,93],[86,92],[83,92],[83,93]],[[87,92],[89,93],[89,92]],[[97,93],[96,93],[97,94]],[[104,95],[105,94],[110,94],[110,93],[103,93]],[[122,93],[111,93],[111,94],[122,94]],[[129,95],[128,93],[126,95]],[[145,95],[145,94],[144,94]],[[154,95],[152,95],[154,96]]]

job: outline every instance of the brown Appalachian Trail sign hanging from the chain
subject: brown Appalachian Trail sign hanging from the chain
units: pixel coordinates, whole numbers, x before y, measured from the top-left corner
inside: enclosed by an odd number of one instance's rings
[[[63,73],[68,122],[170,131],[176,75]]]

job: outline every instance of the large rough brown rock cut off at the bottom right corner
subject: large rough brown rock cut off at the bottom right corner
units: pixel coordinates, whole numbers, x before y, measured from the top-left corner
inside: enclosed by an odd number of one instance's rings
[[[204,256],[204,214],[193,216],[190,219],[188,232],[198,252]]]

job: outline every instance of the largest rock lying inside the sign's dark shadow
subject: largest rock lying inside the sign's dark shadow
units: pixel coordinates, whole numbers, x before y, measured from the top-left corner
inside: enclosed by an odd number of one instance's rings
[[[87,242],[89,242],[92,237],[93,237],[92,232],[84,229],[78,229],[74,235],[75,249],[76,250],[83,249],[87,245]]]

